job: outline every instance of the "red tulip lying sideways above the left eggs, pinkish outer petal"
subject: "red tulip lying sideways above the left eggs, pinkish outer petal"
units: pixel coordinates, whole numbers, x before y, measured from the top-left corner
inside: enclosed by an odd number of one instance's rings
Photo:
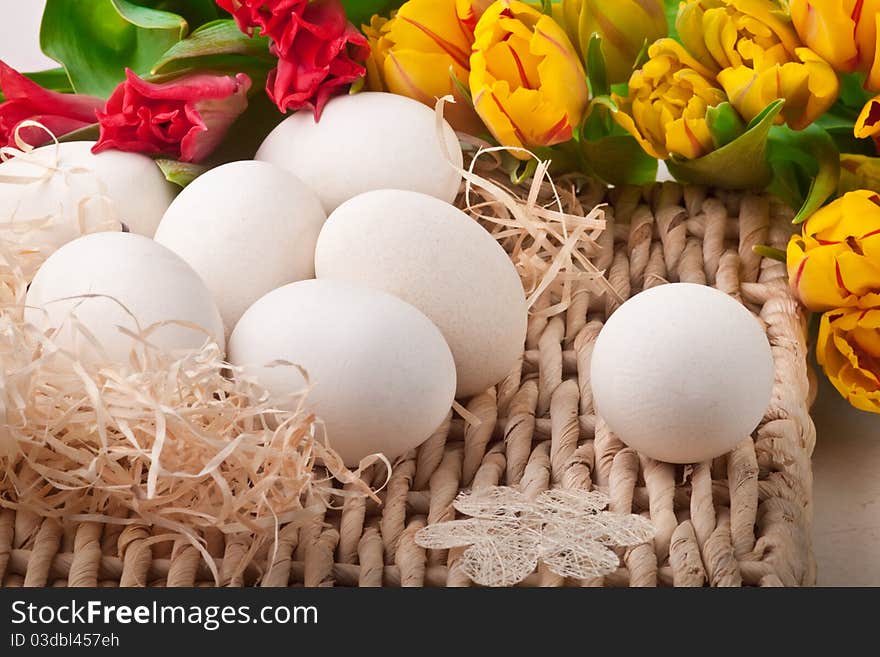
[[[244,73],[196,74],[153,84],[126,70],[102,112],[101,137],[92,149],[163,155],[200,162],[247,108],[251,79]]]

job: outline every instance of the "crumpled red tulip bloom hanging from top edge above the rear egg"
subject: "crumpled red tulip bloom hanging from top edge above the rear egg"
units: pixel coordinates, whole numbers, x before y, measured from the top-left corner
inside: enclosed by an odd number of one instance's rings
[[[278,67],[266,93],[282,112],[311,109],[366,75],[366,37],[348,22],[339,0],[217,0],[239,28],[269,37]]]

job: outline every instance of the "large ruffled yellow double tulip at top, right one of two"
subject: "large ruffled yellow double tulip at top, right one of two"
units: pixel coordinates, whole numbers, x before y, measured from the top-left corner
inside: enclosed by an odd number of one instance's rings
[[[688,0],[676,25],[746,121],[783,98],[778,121],[802,130],[837,100],[834,69],[801,45],[777,0]]]

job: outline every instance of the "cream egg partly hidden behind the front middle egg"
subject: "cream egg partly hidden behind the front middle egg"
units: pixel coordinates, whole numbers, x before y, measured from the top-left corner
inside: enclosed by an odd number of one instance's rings
[[[448,203],[399,190],[351,199],[324,225],[315,271],[425,313],[455,356],[459,397],[495,385],[522,356],[528,310],[519,275],[498,242]]]

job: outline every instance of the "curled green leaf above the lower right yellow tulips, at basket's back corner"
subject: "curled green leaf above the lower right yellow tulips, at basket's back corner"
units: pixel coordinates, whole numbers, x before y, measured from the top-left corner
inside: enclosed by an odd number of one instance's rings
[[[806,221],[837,193],[840,152],[828,133],[817,125],[800,131],[783,126],[774,128],[769,135],[768,161],[775,174],[770,191],[778,191],[783,198],[787,196],[785,200],[793,207],[800,206],[794,218],[796,224]],[[796,184],[795,167],[800,169],[801,181],[809,181],[808,185]],[[793,193],[794,188],[800,191],[804,187],[806,192]]]

